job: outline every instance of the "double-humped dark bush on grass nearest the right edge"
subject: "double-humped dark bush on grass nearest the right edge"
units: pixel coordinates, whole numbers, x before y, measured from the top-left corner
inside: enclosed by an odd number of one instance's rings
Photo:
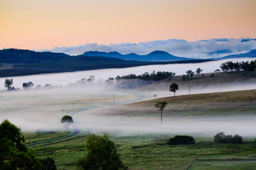
[[[239,135],[225,135],[224,132],[217,133],[214,136],[215,143],[243,143],[243,138]]]

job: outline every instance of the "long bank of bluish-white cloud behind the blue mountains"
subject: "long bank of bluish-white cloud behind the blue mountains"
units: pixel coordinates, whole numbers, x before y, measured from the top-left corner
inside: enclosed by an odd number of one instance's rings
[[[244,38],[213,38],[210,40],[200,40],[195,42],[168,39],[109,45],[87,43],[75,47],[54,47],[51,50],[41,51],[64,52],[69,55],[80,55],[83,54],[85,51],[117,51],[121,54],[128,54],[134,52],[139,55],[144,55],[154,50],[162,50],[178,57],[211,58],[223,57],[229,54],[245,53],[249,52],[250,50],[256,49],[256,40],[241,42],[241,40],[243,39]]]

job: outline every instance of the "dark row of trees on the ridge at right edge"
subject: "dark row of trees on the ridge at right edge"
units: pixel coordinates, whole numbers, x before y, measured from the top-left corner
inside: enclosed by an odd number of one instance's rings
[[[220,69],[223,72],[229,72],[229,71],[254,71],[255,69],[255,62],[251,60],[249,61],[241,61],[241,62],[224,62],[220,65]]]

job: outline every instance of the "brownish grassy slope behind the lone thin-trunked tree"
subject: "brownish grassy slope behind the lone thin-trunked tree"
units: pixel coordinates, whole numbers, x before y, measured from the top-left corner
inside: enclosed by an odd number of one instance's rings
[[[163,117],[256,114],[256,89],[164,97],[108,107],[97,112],[102,115],[159,116],[154,107],[157,101],[168,103]]]

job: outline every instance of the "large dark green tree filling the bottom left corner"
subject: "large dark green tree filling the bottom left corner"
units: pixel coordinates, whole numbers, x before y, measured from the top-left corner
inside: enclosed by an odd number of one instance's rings
[[[20,128],[8,120],[0,124],[0,170],[41,170],[41,163],[24,142]]]

